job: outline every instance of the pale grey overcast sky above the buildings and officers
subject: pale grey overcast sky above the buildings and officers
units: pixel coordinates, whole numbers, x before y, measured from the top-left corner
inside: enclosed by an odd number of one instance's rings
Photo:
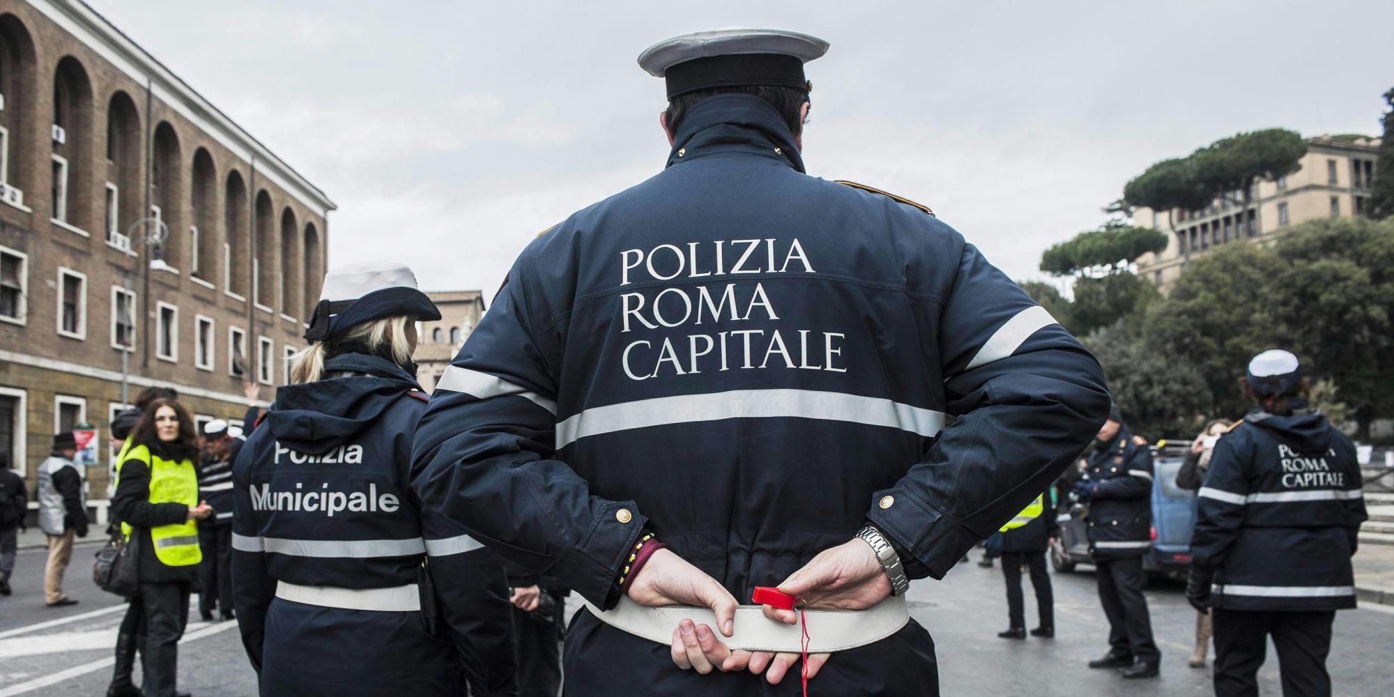
[[[809,173],[931,206],[1018,279],[1147,164],[1266,127],[1379,135],[1394,3],[128,1],[93,7],[321,187],[330,265],[493,290],[539,231],[657,173],[648,45],[832,43]]]

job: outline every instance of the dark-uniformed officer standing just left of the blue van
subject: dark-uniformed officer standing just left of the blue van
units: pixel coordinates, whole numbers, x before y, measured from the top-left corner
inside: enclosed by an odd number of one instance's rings
[[[1089,552],[1108,616],[1108,654],[1089,668],[1122,668],[1124,677],[1156,677],[1161,665],[1142,592],[1142,555],[1151,548],[1151,450],[1139,445],[1112,404],[1075,498],[1089,505]]]

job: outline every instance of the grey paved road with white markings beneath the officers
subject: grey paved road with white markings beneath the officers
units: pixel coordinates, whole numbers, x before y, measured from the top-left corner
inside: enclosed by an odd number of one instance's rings
[[[42,551],[22,552],[17,592],[0,599],[0,697],[100,696],[110,676],[110,647],[123,605],[98,591],[88,573],[95,548],[79,548],[67,583],[82,604],[43,608]],[[974,559],[977,553],[974,552]],[[1154,584],[1147,591],[1153,625],[1163,650],[1158,680],[1122,680],[1111,671],[1085,664],[1107,650],[1103,611],[1089,567],[1055,576],[1054,640],[1006,641],[1002,577],[998,569],[962,565],[944,581],[917,581],[912,611],[938,645],[942,694],[1202,696],[1213,694],[1210,671],[1186,666],[1195,615],[1179,585]],[[1027,616],[1034,599],[1027,581]],[[1365,606],[1337,616],[1330,668],[1335,693],[1387,696],[1388,659],[1394,652],[1394,616],[1383,606]],[[1271,655],[1271,651],[1270,651]],[[834,658],[836,659],[836,658]],[[1260,673],[1263,694],[1280,694],[1276,664]],[[194,622],[180,647],[180,687],[198,697],[241,697],[256,693],[255,675],[233,623]],[[817,694],[817,680],[810,683]]]

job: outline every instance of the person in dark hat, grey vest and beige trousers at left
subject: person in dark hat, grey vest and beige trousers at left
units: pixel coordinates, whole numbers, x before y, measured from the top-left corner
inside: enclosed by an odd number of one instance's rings
[[[53,450],[39,463],[35,498],[39,500],[39,528],[49,539],[49,563],[43,569],[43,601],[50,608],[77,605],[63,592],[63,574],[72,560],[72,538],[86,537],[86,492],[72,459],[77,439],[71,432],[53,436]]]

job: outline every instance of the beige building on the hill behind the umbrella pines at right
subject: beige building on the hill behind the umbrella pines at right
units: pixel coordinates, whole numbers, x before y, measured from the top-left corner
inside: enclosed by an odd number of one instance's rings
[[[1239,191],[1217,198],[1203,210],[1139,208],[1133,224],[1167,233],[1167,248],[1138,259],[1138,275],[1165,289],[1190,259],[1211,248],[1252,240],[1271,243],[1292,226],[1322,217],[1365,215],[1379,138],[1316,137],[1308,139],[1301,169],[1278,180],[1255,184],[1246,210]]]

